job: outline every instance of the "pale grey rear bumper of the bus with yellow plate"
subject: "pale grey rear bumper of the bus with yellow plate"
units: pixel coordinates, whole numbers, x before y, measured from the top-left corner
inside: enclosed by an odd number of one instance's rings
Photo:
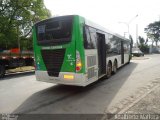
[[[35,74],[36,79],[42,82],[76,86],[88,85],[85,74],[83,73],[60,72],[58,77],[51,77],[46,71],[35,71]]]

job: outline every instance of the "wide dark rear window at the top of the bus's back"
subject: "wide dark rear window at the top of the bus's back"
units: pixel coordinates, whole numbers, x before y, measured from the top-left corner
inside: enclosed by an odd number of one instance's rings
[[[37,25],[39,45],[57,45],[71,41],[72,19],[54,20]]]

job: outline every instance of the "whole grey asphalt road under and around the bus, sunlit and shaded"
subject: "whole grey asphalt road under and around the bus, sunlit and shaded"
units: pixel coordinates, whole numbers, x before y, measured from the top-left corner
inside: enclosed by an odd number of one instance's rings
[[[116,113],[160,84],[160,55],[134,59],[87,87],[35,80],[34,72],[0,80],[0,113]]]

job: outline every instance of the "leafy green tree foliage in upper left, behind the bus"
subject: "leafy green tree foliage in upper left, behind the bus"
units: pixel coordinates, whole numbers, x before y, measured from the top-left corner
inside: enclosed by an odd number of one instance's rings
[[[32,46],[33,24],[50,16],[43,0],[0,0],[0,48],[18,47],[18,39],[22,49]]]

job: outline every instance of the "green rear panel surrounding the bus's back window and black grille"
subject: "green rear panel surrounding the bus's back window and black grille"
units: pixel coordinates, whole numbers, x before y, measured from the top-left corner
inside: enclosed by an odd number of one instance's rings
[[[60,72],[75,72],[75,39],[76,39],[76,27],[75,27],[75,18],[73,17],[73,29],[72,29],[72,37],[69,43],[67,44],[58,44],[58,45],[37,45],[36,39],[36,28],[34,28],[33,39],[34,39],[34,53],[35,53],[35,61],[36,61],[36,69],[39,71],[52,71],[54,65],[60,64],[58,63],[61,60],[61,65],[59,65],[59,73]],[[54,21],[54,19],[53,19]],[[40,24],[40,23],[39,23]],[[44,23],[43,23],[44,24]],[[46,22],[47,24],[47,22]],[[38,26],[38,25],[37,25]],[[42,26],[41,24],[39,26]],[[36,31],[36,32],[35,32]],[[62,49],[64,49],[62,51]],[[55,52],[57,51],[57,52]],[[62,53],[63,52],[63,53]],[[59,54],[63,54],[60,56]],[[56,61],[55,63],[53,61]],[[51,67],[52,66],[52,67]],[[47,70],[48,67],[48,70]],[[54,75],[53,75],[54,76]]]

